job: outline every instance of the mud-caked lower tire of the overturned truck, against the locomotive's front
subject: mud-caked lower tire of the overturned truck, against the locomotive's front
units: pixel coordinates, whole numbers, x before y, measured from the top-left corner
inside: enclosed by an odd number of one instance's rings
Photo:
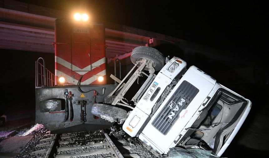
[[[127,111],[106,104],[94,104],[91,113],[95,116],[101,117],[102,119],[108,120],[109,122],[117,122],[127,118]]]

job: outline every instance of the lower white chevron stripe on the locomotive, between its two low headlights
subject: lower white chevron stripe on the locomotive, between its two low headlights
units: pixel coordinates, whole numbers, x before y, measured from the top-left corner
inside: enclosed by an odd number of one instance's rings
[[[63,73],[63,72],[61,72],[59,70],[55,70],[55,72],[56,72],[57,76],[65,76],[66,80],[68,82],[70,82],[70,83],[73,83],[73,84],[76,85],[79,82],[78,80],[72,78],[71,76],[66,75],[65,73]],[[89,84],[91,84],[92,82],[94,82],[95,80],[97,80],[98,75],[101,75],[101,76],[106,75],[106,70],[103,70],[103,71],[99,72],[98,74],[96,74],[96,75],[90,77],[89,79],[85,80],[84,82],[81,82],[81,84],[82,85],[89,85]]]

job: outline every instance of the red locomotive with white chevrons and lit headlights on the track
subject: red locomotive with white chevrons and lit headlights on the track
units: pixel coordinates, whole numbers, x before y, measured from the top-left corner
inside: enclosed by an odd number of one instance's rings
[[[36,123],[52,133],[111,126],[90,113],[115,88],[106,85],[105,28],[79,16],[55,20],[55,76],[36,62]]]

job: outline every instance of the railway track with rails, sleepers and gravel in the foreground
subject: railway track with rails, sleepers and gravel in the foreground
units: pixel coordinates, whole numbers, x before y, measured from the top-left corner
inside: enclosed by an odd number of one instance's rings
[[[31,158],[156,158],[155,150],[137,138],[109,135],[105,130],[66,134],[45,134]],[[24,157],[24,156],[23,156]],[[27,157],[27,156],[26,156]]]

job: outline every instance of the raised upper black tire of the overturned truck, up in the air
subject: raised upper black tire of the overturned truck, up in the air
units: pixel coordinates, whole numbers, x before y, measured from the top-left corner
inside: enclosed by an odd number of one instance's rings
[[[159,50],[146,46],[139,46],[134,48],[131,54],[131,61],[136,64],[136,61],[143,58],[154,62],[153,67],[155,68],[155,71],[161,70],[165,64],[165,57]],[[145,70],[149,70],[149,67],[146,66]]]

